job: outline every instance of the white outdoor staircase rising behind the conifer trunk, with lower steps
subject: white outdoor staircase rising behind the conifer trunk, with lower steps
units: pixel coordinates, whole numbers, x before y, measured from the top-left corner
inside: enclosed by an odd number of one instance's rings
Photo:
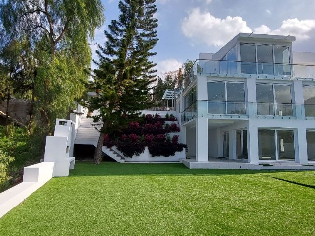
[[[86,118],[83,116],[74,143],[94,145],[95,147],[97,147],[97,142],[100,134],[95,128],[100,127],[101,127],[100,123],[99,124],[94,123],[92,118]],[[116,153],[110,148],[107,148],[106,146],[103,146],[102,152],[117,162],[121,163],[125,162],[124,157],[120,156],[118,153]]]

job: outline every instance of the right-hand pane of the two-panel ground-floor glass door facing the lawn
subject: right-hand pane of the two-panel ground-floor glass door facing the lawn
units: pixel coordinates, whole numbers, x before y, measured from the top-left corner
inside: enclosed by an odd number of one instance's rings
[[[295,160],[293,130],[277,130],[278,160]]]

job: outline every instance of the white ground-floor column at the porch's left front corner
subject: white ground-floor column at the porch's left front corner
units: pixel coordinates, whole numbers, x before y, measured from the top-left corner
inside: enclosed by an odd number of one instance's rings
[[[197,162],[208,162],[208,119],[197,118]]]

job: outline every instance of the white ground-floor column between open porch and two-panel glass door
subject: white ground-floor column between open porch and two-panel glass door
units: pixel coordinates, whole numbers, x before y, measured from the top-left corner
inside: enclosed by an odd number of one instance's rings
[[[251,122],[249,122],[247,130],[248,162],[252,164],[258,164],[259,163],[258,128],[255,125],[251,125]]]

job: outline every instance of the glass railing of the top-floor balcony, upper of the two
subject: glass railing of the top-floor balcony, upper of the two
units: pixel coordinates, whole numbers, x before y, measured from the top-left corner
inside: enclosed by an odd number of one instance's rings
[[[175,89],[176,96],[197,78],[197,74],[233,77],[250,74],[266,79],[284,77],[315,79],[315,65],[197,59]]]

